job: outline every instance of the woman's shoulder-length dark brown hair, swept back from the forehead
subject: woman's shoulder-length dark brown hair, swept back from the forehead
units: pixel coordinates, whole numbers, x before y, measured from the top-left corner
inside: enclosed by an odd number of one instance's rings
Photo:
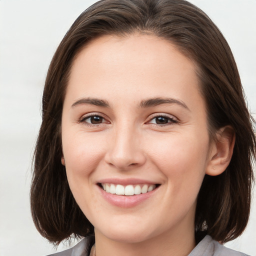
[[[84,44],[105,34],[134,32],[164,38],[196,63],[211,136],[225,125],[234,129],[230,164],[220,175],[205,175],[195,213],[195,234],[205,230],[216,240],[234,239],[244,230],[250,209],[256,151],[252,118],[226,40],[204,12],[184,0],[101,0],[82,12],[67,31],[51,60],[42,97],[30,192],[35,226],[56,243],[70,235],[93,234],[60,162],[65,88],[72,60]]]

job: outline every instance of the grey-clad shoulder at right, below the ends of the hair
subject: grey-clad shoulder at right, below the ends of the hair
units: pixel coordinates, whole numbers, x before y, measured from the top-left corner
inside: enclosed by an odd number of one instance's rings
[[[248,256],[239,251],[229,249],[206,235],[189,253],[188,256]]]

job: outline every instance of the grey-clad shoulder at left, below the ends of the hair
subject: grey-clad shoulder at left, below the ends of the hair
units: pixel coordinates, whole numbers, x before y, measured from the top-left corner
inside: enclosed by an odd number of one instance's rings
[[[50,254],[48,256],[88,256],[94,243],[94,237],[88,236],[79,241],[72,248]]]

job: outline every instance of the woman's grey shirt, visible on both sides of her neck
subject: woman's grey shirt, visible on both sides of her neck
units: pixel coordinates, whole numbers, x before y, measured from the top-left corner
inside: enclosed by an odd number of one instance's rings
[[[48,256],[89,256],[91,238],[85,237],[74,247]],[[247,254],[226,248],[206,235],[187,256],[248,256]]]

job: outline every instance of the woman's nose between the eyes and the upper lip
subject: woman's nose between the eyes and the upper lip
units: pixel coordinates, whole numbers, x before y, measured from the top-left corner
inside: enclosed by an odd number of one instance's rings
[[[110,136],[105,161],[120,170],[141,166],[146,157],[141,145],[141,134],[133,127],[116,128]]]

